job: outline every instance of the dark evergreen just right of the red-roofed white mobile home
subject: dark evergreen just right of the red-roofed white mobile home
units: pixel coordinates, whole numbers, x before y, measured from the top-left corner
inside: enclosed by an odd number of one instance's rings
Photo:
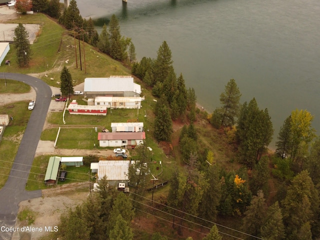
[[[154,137],[157,141],[170,141],[173,129],[169,109],[164,103],[157,102],[157,105],[154,118]]]

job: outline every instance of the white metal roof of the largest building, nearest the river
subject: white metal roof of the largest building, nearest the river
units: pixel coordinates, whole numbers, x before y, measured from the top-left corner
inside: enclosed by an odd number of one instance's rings
[[[85,92],[122,92],[133,91],[141,93],[141,86],[133,82],[131,76],[86,77]]]

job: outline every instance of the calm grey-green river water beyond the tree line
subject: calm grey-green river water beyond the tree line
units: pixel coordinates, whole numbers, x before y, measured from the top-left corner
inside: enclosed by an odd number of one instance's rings
[[[138,60],[155,58],[166,40],[176,73],[182,72],[209,113],[234,78],[241,102],[255,97],[259,108],[268,108],[275,129],[271,148],[295,108],[310,111],[320,131],[320,1],[77,0],[77,5],[82,17],[100,24],[114,13]]]

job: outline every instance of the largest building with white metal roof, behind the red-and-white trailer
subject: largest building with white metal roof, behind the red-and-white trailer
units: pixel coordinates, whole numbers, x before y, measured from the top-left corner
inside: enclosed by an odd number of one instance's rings
[[[87,77],[83,91],[86,97],[140,96],[141,86],[132,76]]]

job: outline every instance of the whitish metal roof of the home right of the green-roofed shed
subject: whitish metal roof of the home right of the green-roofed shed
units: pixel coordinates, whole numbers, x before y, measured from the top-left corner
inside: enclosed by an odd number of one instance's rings
[[[106,176],[107,180],[128,180],[128,160],[100,160],[98,163],[98,178]]]

